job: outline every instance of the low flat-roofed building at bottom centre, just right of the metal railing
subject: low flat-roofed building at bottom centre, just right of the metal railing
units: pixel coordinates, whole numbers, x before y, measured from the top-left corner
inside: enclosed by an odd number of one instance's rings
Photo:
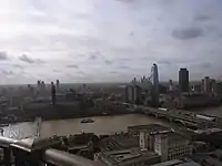
[[[148,166],[160,163],[161,157],[153,152],[130,148],[98,153],[94,155],[94,160],[107,166]]]

